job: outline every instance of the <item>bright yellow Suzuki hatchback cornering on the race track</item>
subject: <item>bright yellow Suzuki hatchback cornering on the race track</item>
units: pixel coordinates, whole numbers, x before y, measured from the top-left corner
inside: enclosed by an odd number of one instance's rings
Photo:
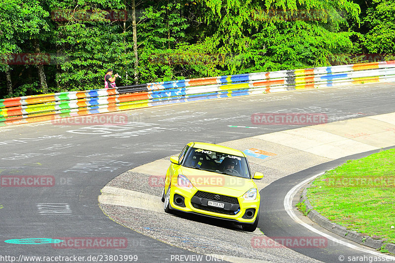
[[[260,196],[246,155],[208,143],[189,143],[178,157],[170,157],[162,192],[164,211],[231,220],[254,231],[259,220]]]

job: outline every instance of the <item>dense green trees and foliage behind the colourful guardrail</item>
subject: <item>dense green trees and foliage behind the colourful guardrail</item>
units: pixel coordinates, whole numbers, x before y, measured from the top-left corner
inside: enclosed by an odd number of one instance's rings
[[[103,88],[107,68],[119,86],[391,59],[394,14],[393,0],[0,0],[0,97]]]

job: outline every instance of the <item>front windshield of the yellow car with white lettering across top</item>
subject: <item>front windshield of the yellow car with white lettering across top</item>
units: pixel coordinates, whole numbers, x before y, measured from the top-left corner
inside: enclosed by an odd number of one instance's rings
[[[199,170],[251,178],[245,157],[198,148],[189,149],[183,166]]]

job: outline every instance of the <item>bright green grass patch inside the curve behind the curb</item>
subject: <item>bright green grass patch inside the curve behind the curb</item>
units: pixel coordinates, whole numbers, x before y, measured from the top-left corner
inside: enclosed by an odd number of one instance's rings
[[[316,178],[307,196],[331,222],[395,243],[395,149],[327,171]]]

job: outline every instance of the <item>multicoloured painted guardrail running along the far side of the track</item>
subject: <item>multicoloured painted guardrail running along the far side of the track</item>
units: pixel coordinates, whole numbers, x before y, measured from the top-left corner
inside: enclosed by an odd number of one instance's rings
[[[395,61],[383,61],[24,96],[0,100],[0,126],[196,100],[394,81]]]

